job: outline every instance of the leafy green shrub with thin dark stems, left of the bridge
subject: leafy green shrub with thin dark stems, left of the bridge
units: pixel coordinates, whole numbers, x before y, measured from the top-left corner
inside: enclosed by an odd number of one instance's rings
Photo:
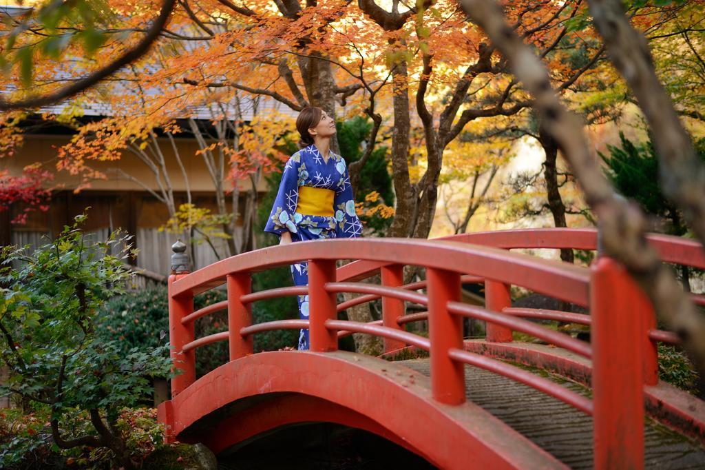
[[[90,445],[130,469],[132,430],[119,426],[121,409],[149,399],[149,378],[167,378],[171,361],[164,339],[161,346],[125,349],[97,335],[98,311],[130,279],[123,267],[128,248],[121,248],[128,240],[113,234],[87,241],[78,228],[83,220],[76,217],[73,227],[33,253],[15,246],[0,252],[0,358],[9,374],[0,394],[18,395],[25,408],[44,405],[42,423],[49,423],[57,447]],[[13,439],[4,446],[0,466],[16,463],[25,444]]]

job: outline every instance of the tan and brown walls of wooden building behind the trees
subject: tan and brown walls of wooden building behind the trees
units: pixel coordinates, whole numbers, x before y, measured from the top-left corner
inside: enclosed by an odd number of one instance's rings
[[[264,106],[276,107],[275,103],[266,102]],[[259,103],[262,111],[263,103]],[[277,109],[281,112],[281,109]],[[90,109],[87,110],[90,112]],[[97,118],[99,116],[94,116]],[[90,115],[87,116],[90,118]],[[200,122],[207,125],[207,119]],[[0,164],[10,169],[11,173],[20,174],[27,164],[42,162],[45,169],[54,169],[55,179],[51,181],[54,188],[49,210],[30,212],[25,224],[12,224],[11,220],[23,210],[23,207],[11,207],[10,211],[0,212],[0,244],[39,246],[43,237],[54,237],[66,224],[73,223],[73,217],[81,214],[87,207],[88,219],[85,230],[96,239],[106,239],[112,231],[122,229],[133,236],[133,246],[138,249],[131,264],[142,270],[167,275],[171,244],[177,235],[160,230],[169,218],[168,207],[151,191],[159,192],[160,182],[157,175],[131,152],[123,152],[121,159],[109,162],[90,162],[92,168],[101,171],[106,179],[96,179],[90,182],[90,187],[76,192],[81,181],[78,176],[66,171],[55,170],[57,149],[71,139],[71,131],[57,126],[39,126],[37,130],[25,134],[25,142],[13,157],[0,159]],[[197,155],[199,146],[195,138],[187,134],[176,134],[174,142],[176,150],[188,175],[188,185],[183,177],[168,138],[157,138],[159,150],[164,155],[166,174],[173,191],[176,207],[187,202],[187,189],[190,191],[192,203],[197,207],[205,207],[216,211],[214,182],[204,164],[202,156]],[[128,176],[129,175],[129,176]],[[137,183],[136,181],[140,182]],[[164,181],[161,181],[164,185]],[[230,183],[225,183],[229,187]],[[239,181],[243,193],[252,188],[250,180]],[[257,191],[266,190],[264,182],[260,181]],[[241,196],[242,197],[242,196]],[[228,202],[231,210],[232,201]],[[240,204],[239,207],[243,207]],[[235,227],[236,234],[241,230],[241,224]],[[219,256],[227,253],[226,241],[214,239],[214,246]],[[194,267],[202,267],[214,263],[218,258],[212,247],[206,243],[193,247],[191,259]]]

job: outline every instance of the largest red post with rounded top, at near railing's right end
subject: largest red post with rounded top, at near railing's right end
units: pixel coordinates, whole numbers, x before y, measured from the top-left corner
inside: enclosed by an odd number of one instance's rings
[[[594,468],[644,466],[643,318],[635,284],[610,258],[591,266]]]

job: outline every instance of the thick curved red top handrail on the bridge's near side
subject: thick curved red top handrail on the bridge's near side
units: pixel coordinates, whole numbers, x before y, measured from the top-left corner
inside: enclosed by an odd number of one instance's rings
[[[487,270],[487,267],[492,267],[489,275],[485,277],[493,277],[499,282],[508,284],[522,285],[542,294],[587,306],[585,287],[588,284],[589,275],[584,268],[563,266],[549,260],[486,246],[452,241],[410,239],[333,239],[326,241],[326,243],[321,243],[321,241],[299,242],[296,248],[295,251],[287,250],[287,246],[262,248],[202,267],[187,277],[180,277],[176,282],[173,282],[172,295],[174,297],[183,294],[195,296],[225,284],[228,274],[259,272],[314,258],[324,260],[346,258],[369,260],[372,258],[372,260],[384,264],[395,264],[401,258],[406,257],[405,265],[443,269],[446,267],[443,263],[448,263],[448,269],[472,275],[470,269],[460,266],[459,259],[462,258],[462,260],[472,259],[475,270]],[[392,248],[395,249],[392,250]],[[345,253],[345,255],[341,253]],[[446,257],[439,257],[439,253],[445,254]],[[482,267],[477,266],[478,264]],[[513,269],[508,269],[509,267]],[[531,272],[533,276],[522,279],[522,275],[527,272]],[[556,283],[562,284],[564,289],[557,289]]]

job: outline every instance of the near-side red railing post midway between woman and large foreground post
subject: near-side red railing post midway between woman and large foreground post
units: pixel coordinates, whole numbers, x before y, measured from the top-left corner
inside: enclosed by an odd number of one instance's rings
[[[457,272],[428,268],[429,337],[431,339],[431,391],[434,399],[447,404],[465,402],[465,366],[448,356],[462,349],[462,318],[448,311],[449,301],[460,300]]]

